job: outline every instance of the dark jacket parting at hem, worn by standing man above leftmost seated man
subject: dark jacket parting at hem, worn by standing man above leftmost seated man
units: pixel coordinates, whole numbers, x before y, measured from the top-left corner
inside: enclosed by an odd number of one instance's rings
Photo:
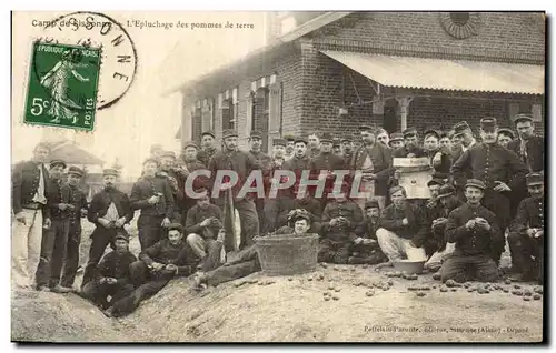
[[[116,210],[118,210],[118,215],[126,218],[126,223],[129,223],[133,219],[133,211],[131,210],[128,195],[117,189],[103,189],[92,196],[87,214],[89,222],[98,224],[98,219],[106,215],[112,202],[116,205]]]

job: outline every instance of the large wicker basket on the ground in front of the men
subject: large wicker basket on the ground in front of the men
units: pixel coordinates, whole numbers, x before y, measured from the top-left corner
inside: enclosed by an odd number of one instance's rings
[[[318,234],[280,234],[257,238],[257,253],[262,273],[288,275],[315,271]]]

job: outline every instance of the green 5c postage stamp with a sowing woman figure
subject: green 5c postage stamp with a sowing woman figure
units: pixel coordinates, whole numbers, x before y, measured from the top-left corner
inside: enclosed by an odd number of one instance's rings
[[[23,121],[91,131],[100,59],[98,48],[34,42]]]

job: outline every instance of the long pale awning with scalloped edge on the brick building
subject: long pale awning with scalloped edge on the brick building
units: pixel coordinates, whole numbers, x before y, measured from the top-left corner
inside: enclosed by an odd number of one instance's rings
[[[544,65],[327,50],[321,52],[387,87],[523,94],[545,93]]]

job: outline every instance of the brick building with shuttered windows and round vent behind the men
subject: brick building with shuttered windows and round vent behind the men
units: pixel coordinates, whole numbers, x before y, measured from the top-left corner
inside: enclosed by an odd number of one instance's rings
[[[544,13],[278,13],[274,28],[280,20],[274,42],[182,85],[182,141],[235,128],[245,147],[255,129],[266,149],[364,122],[395,132],[466,120],[477,132],[486,115],[508,127],[519,112],[544,131]]]

